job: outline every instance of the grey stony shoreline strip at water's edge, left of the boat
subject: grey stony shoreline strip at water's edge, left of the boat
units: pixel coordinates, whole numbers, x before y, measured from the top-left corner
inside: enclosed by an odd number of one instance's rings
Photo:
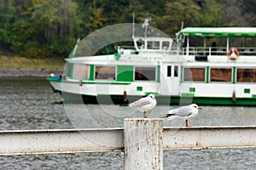
[[[60,75],[62,71],[50,68],[0,68],[0,77],[49,77],[51,73]]]

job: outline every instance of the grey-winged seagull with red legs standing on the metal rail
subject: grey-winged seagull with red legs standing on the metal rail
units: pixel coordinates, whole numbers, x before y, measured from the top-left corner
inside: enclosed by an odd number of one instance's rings
[[[194,118],[197,115],[199,109],[201,109],[201,107],[199,107],[196,104],[186,105],[186,106],[182,106],[180,108],[168,111],[168,113],[166,115],[161,116],[161,118],[166,118],[167,121],[176,119],[176,118],[185,119],[186,127],[189,127],[188,119]]]

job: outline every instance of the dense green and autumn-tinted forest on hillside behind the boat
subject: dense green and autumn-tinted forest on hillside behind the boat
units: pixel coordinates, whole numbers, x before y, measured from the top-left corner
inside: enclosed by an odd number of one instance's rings
[[[256,26],[255,0],[1,0],[0,50],[66,58],[78,38],[113,24],[143,23],[170,37],[188,26]]]

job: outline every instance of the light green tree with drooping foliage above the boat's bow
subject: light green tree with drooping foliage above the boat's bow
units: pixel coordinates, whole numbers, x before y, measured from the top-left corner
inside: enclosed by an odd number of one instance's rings
[[[64,54],[76,42],[76,32],[82,22],[77,14],[78,4],[72,0],[44,0],[35,5],[32,20],[38,21],[41,35],[48,42],[51,54]]]

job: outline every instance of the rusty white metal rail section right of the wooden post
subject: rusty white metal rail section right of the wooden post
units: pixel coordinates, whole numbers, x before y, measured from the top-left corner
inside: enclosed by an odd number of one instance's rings
[[[164,149],[256,147],[256,127],[167,127]]]

